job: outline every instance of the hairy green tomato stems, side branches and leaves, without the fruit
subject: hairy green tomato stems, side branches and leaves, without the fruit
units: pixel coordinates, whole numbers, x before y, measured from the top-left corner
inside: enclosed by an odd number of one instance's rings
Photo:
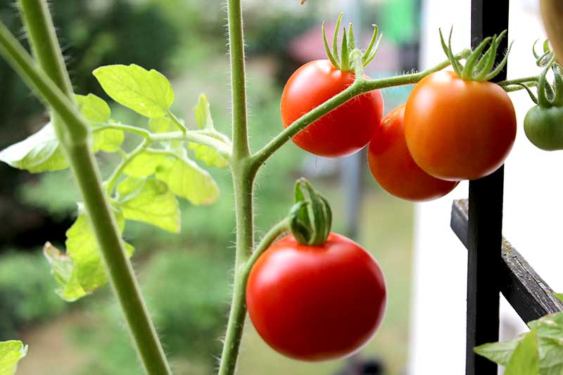
[[[153,193],[150,190],[151,186],[165,184],[165,198],[170,202],[172,211],[177,207],[176,196],[186,198],[194,204],[205,204],[215,200],[218,196],[215,182],[205,170],[201,170],[193,160],[188,158],[183,146],[183,142],[186,141],[189,149],[206,164],[221,167],[229,165],[232,172],[236,212],[236,260],[232,304],[219,374],[232,375],[236,369],[236,358],[246,318],[245,291],[248,276],[260,255],[281,234],[288,231],[290,226],[289,220],[281,220],[262,237],[258,245],[255,245],[253,189],[260,167],[289,139],[324,115],[362,94],[388,87],[416,84],[451,64],[462,77],[488,80],[498,70],[498,68],[493,68],[491,61],[494,62],[496,49],[502,37],[501,34],[499,37],[486,39],[491,46],[482,56],[481,52],[486,48],[486,44],[476,51],[466,49],[454,54],[451,48],[449,46],[446,48],[443,43],[448,53],[448,60],[422,72],[370,80],[365,77],[364,68],[367,63],[372,61],[375,51],[377,51],[378,29],[374,27],[374,37],[367,51],[362,53],[355,47],[353,29],[350,27],[348,36],[342,44],[340,59],[336,51],[336,37],[333,42],[333,52],[329,51],[326,39],[325,46],[329,59],[333,61],[334,65],[353,72],[353,82],[338,94],[298,117],[274,139],[255,153],[251,153],[247,127],[241,0],[228,0],[227,2],[232,83],[232,141],[213,127],[205,96],[201,96],[200,102],[196,106],[198,129],[189,129],[170,110],[173,101],[170,82],[160,73],[154,70],[144,70],[137,65],[109,65],[95,70],[94,75],[106,93],[115,101],[148,117],[151,130],[111,120],[109,107],[101,98],[93,95],[78,97],[73,93],[46,0],[20,0],[20,5],[36,60],[25,51],[3,23],[0,23],[0,53],[35,94],[49,106],[52,122],[40,132],[54,132],[56,136],[53,136],[52,139],[61,146],[62,151],[50,150],[49,158],[56,152],[63,152],[65,158],[57,159],[56,163],[51,160],[48,167],[42,164],[45,160],[40,160],[41,167],[37,167],[37,165],[25,164],[27,163],[25,160],[15,158],[15,148],[2,151],[0,156],[6,163],[32,172],[61,169],[70,165],[82,193],[85,212],[80,212],[77,222],[71,227],[69,233],[78,232],[80,236],[88,236],[87,241],[89,241],[90,248],[94,252],[99,249],[101,260],[96,266],[102,267],[108,274],[141,362],[148,374],[159,375],[170,374],[170,366],[167,364],[162,345],[146,310],[137,279],[129,262],[132,246],[121,238],[125,220],[139,220],[138,216],[131,215],[130,212],[127,212],[125,205],[122,205],[122,195],[130,195],[135,198],[145,194],[144,198],[146,198],[148,194],[150,199],[151,193]],[[459,63],[462,59],[466,60],[463,70]],[[127,84],[132,84],[132,82],[115,83],[115,77],[124,75],[132,77],[133,84],[138,85],[136,88],[140,88],[140,91],[132,89],[127,91]],[[498,84],[505,91],[514,91],[537,85],[538,80],[540,80],[540,76],[531,76],[506,80]],[[123,87],[116,88],[116,84],[121,84]],[[153,95],[153,87],[158,87],[160,90],[158,96]],[[141,139],[137,146],[129,152],[121,148],[125,133]],[[45,136],[45,134],[41,135]],[[33,136],[37,136],[37,134]],[[30,136],[30,139],[33,136]],[[14,145],[17,146],[18,152],[25,148],[24,142]],[[101,181],[99,168],[94,158],[94,153],[98,148],[121,155],[120,163],[115,166],[115,170],[106,182]],[[196,191],[186,188],[174,178],[173,175],[176,172],[189,173],[194,180],[198,179],[203,187]],[[128,177],[122,179],[124,174]],[[155,223],[151,217],[141,218],[141,220],[170,231],[178,230],[177,217],[172,215],[171,219],[172,224],[164,225]],[[174,220],[176,220],[176,224],[174,224]],[[73,228],[74,231],[72,231]],[[80,240],[85,241],[84,238]],[[317,242],[315,245],[318,245]],[[56,266],[69,265],[69,262],[73,262],[72,258],[58,253],[58,250],[53,250],[52,247],[46,248],[46,255],[51,264]],[[72,264],[72,267],[75,266],[80,267],[80,265]],[[61,274],[58,274],[58,277],[64,279]],[[80,287],[78,292],[68,291],[71,280],[63,280],[63,287],[67,289],[61,291],[61,295],[68,300],[80,298],[82,295],[91,293],[96,286],[103,284],[106,281],[103,277],[92,281],[92,285],[89,285],[88,288],[80,282],[72,281],[77,283],[72,284],[72,287]]]

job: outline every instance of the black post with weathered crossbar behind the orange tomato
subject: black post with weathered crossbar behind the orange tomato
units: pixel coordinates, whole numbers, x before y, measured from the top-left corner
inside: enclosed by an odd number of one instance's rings
[[[471,44],[508,30],[509,0],[472,0]],[[508,36],[498,51],[507,48]],[[497,62],[502,54],[497,56]],[[506,66],[495,77],[506,79]],[[476,345],[498,341],[499,293],[524,320],[563,311],[563,303],[510,243],[502,238],[504,167],[469,182],[469,200],[455,201],[451,227],[468,250],[467,375],[496,375],[497,365],[475,355]]]

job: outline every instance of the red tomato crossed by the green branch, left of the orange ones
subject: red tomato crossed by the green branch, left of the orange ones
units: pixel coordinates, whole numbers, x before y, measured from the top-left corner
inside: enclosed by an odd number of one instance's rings
[[[354,82],[328,60],[306,63],[291,75],[281,94],[281,119],[288,127],[305,113]],[[339,158],[360,151],[372,138],[383,116],[383,97],[371,91],[322,116],[293,137],[293,142],[315,155]]]

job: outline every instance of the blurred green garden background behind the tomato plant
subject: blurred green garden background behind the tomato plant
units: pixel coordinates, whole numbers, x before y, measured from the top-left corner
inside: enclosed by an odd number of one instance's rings
[[[254,150],[281,129],[279,98],[291,72],[307,60],[323,58],[322,20],[334,29],[334,20],[344,11],[345,20],[353,18],[362,25],[362,32],[356,29],[357,34],[365,34],[362,39],[369,39],[373,23],[381,27],[381,51],[367,71],[372,77],[415,68],[417,1],[299,3],[243,1]],[[188,124],[194,122],[192,108],[199,94],[207,94],[216,127],[230,134],[222,2],[56,0],[51,8],[77,94],[94,93],[112,103],[92,70],[136,63],[159,70],[172,81],[173,109]],[[2,1],[0,19],[25,41],[13,1]],[[36,132],[46,122],[46,113],[4,61],[0,61],[0,82],[2,149]],[[409,89],[384,91],[386,111],[403,103]],[[125,124],[146,126],[146,120],[130,110],[112,106],[112,112]],[[110,155],[99,154],[102,172],[111,161]],[[344,163],[362,168],[357,172],[360,189],[343,184],[350,182],[342,177]],[[125,229],[125,239],[137,249],[134,266],[175,374],[213,373],[229,307],[234,258],[231,181],[227,170],[211,168],[210,172],[220,186],[220,201],[202,207],[182,202],[181,234],[133,222],[127,222]],[[355,236],[379,261],[388,285],[386,317],[356,359],[321,364],[278,355],[262,343],[247,320],[239,374],[339,374],[358,358],[381,360],[385,374],[403,374],[409,342],[413,205],[379,188],[367,170],[365,155],[357,155],[355,161],[329,160],[289,143],[258,177],[255,203],[262,233],[286,215],[293,201],[293,182],[301,176],[312,180],[331,201],[336,231]],[[75,220],[80,196],[69,172],[30,174],[1,164],[0,179],[0,341],[17,338],[29,345],[17,374],[140,374],[107,286],[70,304],[54,292],[56,282],[42,246],[51,241],[64,248],[65,231]]]

